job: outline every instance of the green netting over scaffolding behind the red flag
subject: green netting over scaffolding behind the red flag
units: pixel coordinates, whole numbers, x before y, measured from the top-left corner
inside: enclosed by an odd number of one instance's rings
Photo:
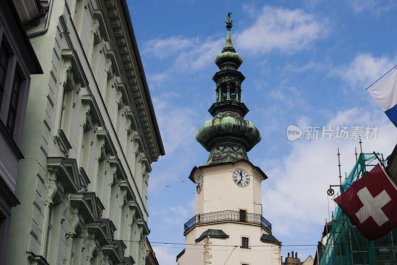
[[[383,154],[378,154],[378,157],[385,163]],[[350,174],[342,182],[341,192],[378,162],[374,154],[361,153]],[[322,252],[320,265],[397,265],[397,229],[377,240],[368,241],[342,210],[336,207],[332,213],[331,232]]]

